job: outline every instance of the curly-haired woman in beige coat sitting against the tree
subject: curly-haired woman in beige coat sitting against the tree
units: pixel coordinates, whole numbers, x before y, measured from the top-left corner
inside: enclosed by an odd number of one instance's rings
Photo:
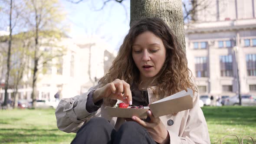
[[[184,50],[159,18],[131,26],[112,67],[99,85],[74,98],[62,99],[56,109],[61,131],[77,132],[72,143],[210,144]],[[193,108],[149,121],[108,117],[105,106],[116,100],[147,106],[184,89],[194,91]]]

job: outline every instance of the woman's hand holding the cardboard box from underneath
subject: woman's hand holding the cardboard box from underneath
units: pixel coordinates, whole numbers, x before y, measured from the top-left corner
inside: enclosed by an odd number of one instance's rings
[[[170,136],[161,119],[155,118],[150,110],[147,111],[147,114],[148,117],[151,119],[148,122],[142,121],[140,118],[136,116],[133,116],[132,120],[138,122],[138,124],[146,128],[154,141],[158,142],[159,144],[169,143]]]

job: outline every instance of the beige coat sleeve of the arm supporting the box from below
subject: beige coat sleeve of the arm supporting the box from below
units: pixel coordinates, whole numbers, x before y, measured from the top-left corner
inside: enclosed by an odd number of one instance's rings
[[[203,111],[199,106],[198,95],[193,98],[193,108],[188,111],[188,118],[184,132],[178,136],[172,131],[169,131],[170,144],[210,144],[210,136],[205,121]]]

